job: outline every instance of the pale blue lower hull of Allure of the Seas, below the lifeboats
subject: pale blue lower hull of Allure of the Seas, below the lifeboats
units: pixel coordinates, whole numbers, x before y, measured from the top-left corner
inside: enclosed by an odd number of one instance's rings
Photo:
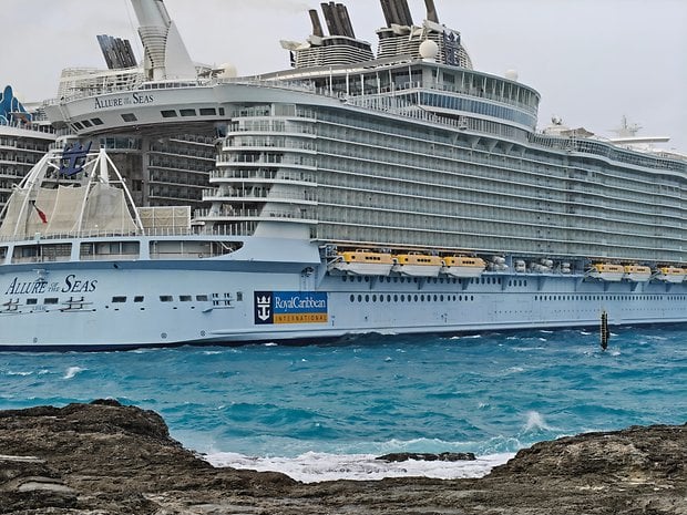
[[[269,258],[269,249],[286,259]],[[311,341],[687,321],[687,284],[484,272],[474,279],[327,271],[316,244],[245,238],[228,256],[2,267],[0,348]]]

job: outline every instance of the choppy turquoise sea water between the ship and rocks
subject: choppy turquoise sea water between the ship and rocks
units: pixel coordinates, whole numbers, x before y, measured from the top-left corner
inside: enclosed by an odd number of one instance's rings
[[[215,465],[317,482],[480,476],[542,440],[687,422],[687,327],[0,353],[0,409],[117,399]],[[389,452],[474,462],[387,464]]]

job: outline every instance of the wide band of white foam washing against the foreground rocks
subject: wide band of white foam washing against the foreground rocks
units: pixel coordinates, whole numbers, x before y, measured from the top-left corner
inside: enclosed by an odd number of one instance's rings
[[[440,462],[417,461],[384,462],[372,454],[327,454],[308,452],[297,457],[257,457],[237,453],[213,453],[205,456],[214,466],[281,472],[296,481],[368,481],[384,477],[432,477],[457,480],[482,477],[496,465],[513,457],[512,453],[480,456],[474,461]]]

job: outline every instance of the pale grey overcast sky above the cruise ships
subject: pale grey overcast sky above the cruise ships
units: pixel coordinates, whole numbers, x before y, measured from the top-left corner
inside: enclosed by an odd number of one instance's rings
[[[376,49],[379,0],[348,6],[358,38]],[[0,86],[23,101],[57,94],[62,68],[105,68],[96,34],[130,39],[141,55],[129,0],[2,0]],[[311,31],[310,0],[165,0],[192,58],[233,63],[239,74],[288,68],[279,40]],[[542,95],[540,126],[558,115],[572,127],[613,136],[623,115],[643,135],[671,136],[687,152],[687,1],[435,0],[440,21],[461,31],[474,68]],[[409,0],[424,19],[423,0]],[[320,11],[321,13],[321,11]],[[320,14],[321,18],[321,14]],[[322,18],[324,23],[324,18]]]

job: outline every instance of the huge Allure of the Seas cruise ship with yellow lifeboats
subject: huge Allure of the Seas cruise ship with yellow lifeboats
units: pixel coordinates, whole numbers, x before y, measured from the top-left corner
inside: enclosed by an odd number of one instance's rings
[[[290,68],[198,73],[132,0],[140,79],[47,107],[79,141],[3,212],[0,346],[126,349],[687,321],[687,159],[561,121],[473,69],[432,0],[372,45],[310,11]],[[205,206],[136,206],[112,136],[214,135]],[[120,169],[122,168],[122,169]]]

